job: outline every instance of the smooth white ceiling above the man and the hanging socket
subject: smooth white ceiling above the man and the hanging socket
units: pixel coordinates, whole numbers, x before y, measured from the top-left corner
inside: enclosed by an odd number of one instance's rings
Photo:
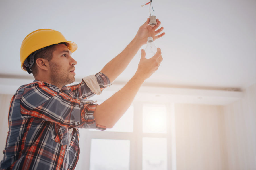
[[[0,78],[32,78],[20,69],[19,50],[26,35],[41,28],[77,43],[77,80],[97,73],[146,21],[149,6],[141,5],[148,1],[1,0]],[[164,60],[147,84],[243,89],[256,82],[255,0],[152,2],[166,35],[155,42]],[[129,80],[139,58],[137,53],[115,82]]]

